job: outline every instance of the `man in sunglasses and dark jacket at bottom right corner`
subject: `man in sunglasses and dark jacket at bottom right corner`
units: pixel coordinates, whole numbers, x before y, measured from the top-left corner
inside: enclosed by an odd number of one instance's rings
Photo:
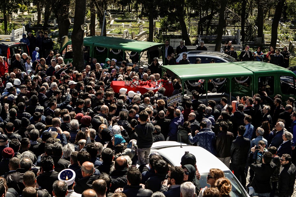
[[[278,196],[292,196],[296,178],[296,167],[291,163],[291,156],[283,154],[281,157],[281,165],[283,170],[279,175],[278,180]]]

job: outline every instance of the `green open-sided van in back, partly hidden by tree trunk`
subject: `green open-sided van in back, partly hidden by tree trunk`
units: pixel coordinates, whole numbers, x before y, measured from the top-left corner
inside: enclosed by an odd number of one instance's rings
[[[106,58],[114,58],[121,62],[126,58],[125,52],[128,51],[130,51],[130,54],[131,51],[137,52],[140,55],[139,59],[141,59],[145,51],[158,50],[158,48],[162,46],[162,43],[155,42],[144,42],[105,36],[89,36],[84,38],[83,41],[84,60],[87,62],[89,58],[96,58],[97,62],[105,63]],[[72,62],[72,41],[67,42],[61,48],[59,53],[64,58],[64,62]],[[127,54],[130,56],[129,53]]]

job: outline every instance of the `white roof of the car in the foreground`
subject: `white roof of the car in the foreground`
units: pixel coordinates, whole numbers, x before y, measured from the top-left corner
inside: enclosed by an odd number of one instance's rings
[[[164,145],[161,146],[161,143]],[[174,166],[180,166],[182,156],[185,151],[189,151],[189,153],[193,154],[196,158],[196,166],[199,173],[208,173],[211,168],[219,168],[222,171],[229,171],[229,168],[225,166],[224,163],[202,147],[182,144],[181,148],[180,143],[178,142],[168,141],[161,143],[154,143],[150,153],[158,152]]]

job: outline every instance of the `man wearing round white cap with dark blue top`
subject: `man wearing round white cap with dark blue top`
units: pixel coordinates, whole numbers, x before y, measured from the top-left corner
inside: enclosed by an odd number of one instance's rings
[[[62,170],[59,173],[58,179],[60,181],[65,181],[68,185],[68,194],[66,195],[66,197],[81,197],[81,194],[77,194],[73,190],[73,187],[75,185],[75,177],[76,177],[76,174],[71,169]]]

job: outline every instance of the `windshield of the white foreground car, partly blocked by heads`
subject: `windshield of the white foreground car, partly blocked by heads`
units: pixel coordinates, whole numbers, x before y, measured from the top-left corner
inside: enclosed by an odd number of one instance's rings
[[[237,179],[234,177],[234,175],[230,171],[224,171],[225,178],[228,179],[231,182],[231,197],[247,197],[245,194],[244,189],[241,187],[241,185],[237,182]],[[207,176],[208,173],[202,173],[200,174],[201,178],[199,179],[200,186],[202,188],[209,187],[207,184]]]

